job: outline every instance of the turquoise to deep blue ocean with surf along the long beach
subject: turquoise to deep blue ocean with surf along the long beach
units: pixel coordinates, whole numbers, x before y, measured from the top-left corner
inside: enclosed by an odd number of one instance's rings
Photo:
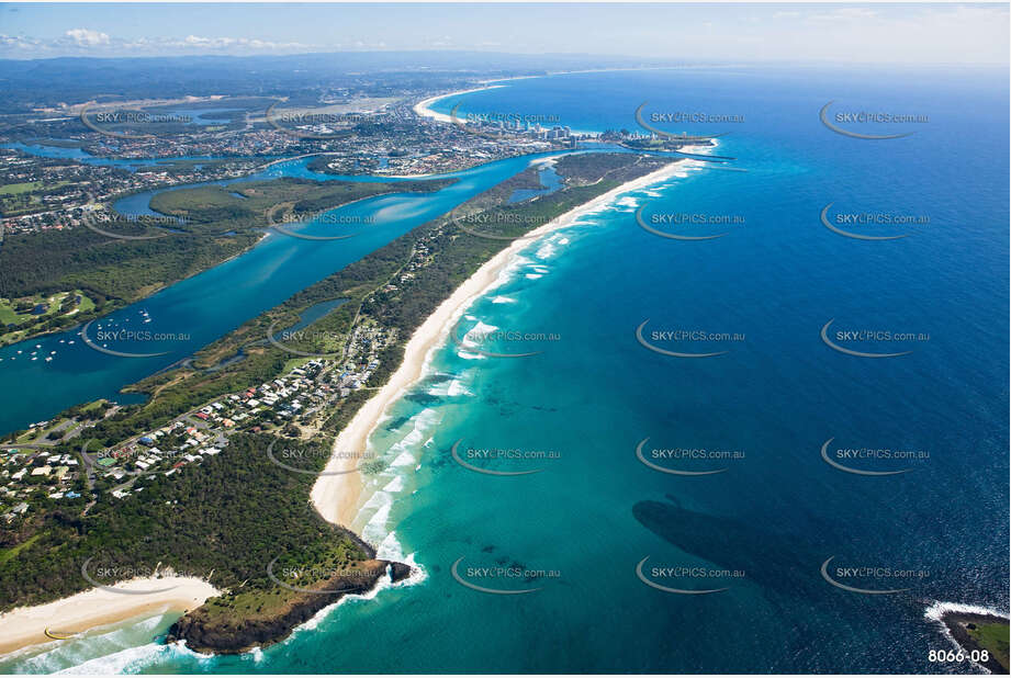
[[[746,122],[717,152],[748,171],[686,169],[624,195],[531,242],[465,312],[458,337],[497,328],[551,340],[448,343],[373,436],[389,465],[371,481],[380,491],[356,527],[383,555],[419,566],[408,585],[345,601],[288,641],[239,657],[123,639],[119,652],[68,644],[13,668],[91,658],[82,669],[951,670],[928,662],[929,649],[947,645],[925,609],[935,601],[1009,606],[1006,75],[593,74],[467,97],[461,110],[551,108],[582,129],[630,126],[643,101],[658,111],[743,113]],[[607,95],[591,106],[587,91]],[[925,113],[930,123],[905,139],[854,139],[819,122],[819,109],[833,99]],[[849,239],[819,219],[831,202],[839,212],[929,215],[930,225],[908,227],[912,235],[901,240]],[[688,213],[743,223],[692,231],[728,231],[719,239],[677,241],[641,228],[640,207],[647,219]],[[929,340],[898,342],[913,351],[901,358],[847,355],[821,340],[832,318],[840,329],[924,332]],[[743,340],[655,339],[669,350],[728,351],[672,358],[637,341],[648,319],[647,338],[652,329],[686,329]],[[527,349],[541,352],[478,352]],[[636,456],[647,437],[647,453],[731,450],[743,457],[655,460],[679,471],[726,468],[660,473]],[[863,470],[911,468],[847,474],[822,460],[829,438],[835,447],[930,456],[899,466],[846,460]],[[462,454],[554,454],[467,457],[485,470],[540,470],[496,476],[459,464],[457,441]],[[684,596],[648,586],[636,574],[648,556],[644,574],[654,584],[727,590]],[[850,585],[909,590],[835,588],[819,572],[833,556],[829,573]],[[473,590],[451,574],[459,558],[467,584],[540,590]],[[849,578],[836,565],[908,572]],[[471,567],[550,576],[487,577]],[[665,576],[653,567],[720,574]]]

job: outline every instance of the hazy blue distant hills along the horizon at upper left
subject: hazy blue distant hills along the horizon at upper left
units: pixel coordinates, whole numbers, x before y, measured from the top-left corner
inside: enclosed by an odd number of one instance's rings
[[[287,56],[57,57],[0,59],[2,113],[80,103],[101,93],[126,99],[183,95],[290,95],[349,88],[371,94],[452,87],[473,77],[676,66],[674,60],[580,54],[337,52]],[[381,82],[380,78],[381,76]]]

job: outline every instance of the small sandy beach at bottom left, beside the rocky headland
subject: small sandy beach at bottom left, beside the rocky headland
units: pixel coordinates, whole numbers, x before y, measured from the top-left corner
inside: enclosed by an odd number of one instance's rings
[[[217,589],[196,577],[145,577],[116,584],[116,588],[135,592],[93,588],[54,602],[0,614],[0,654],[53,643],[56,639],[46,635],[46,630],[59,637],[74,636],[134,618],[192,610],[218,595]],[[166,588],[169,590],[136,592]]]

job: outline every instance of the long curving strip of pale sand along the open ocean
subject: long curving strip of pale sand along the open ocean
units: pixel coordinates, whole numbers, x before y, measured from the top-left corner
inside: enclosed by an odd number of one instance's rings
[[[361,472],[357,470],[358,459],[368,452],[369,438],[383,420],[385,410],[424,375],[431,355],[445,343],[453,324],[478,297],[494,285],[499,273],[520,250],[544,235],[571,226],[583,215],[625,193],[676,176],[683,170],[684,162],[683,159],[673,160],[659,170],[622,183],[535,228],[485,261],[443,300],[411,336],[404,349],[404,358],[390,380],[359,408],[334,441],[334,456],[324,470],[325,474],[330,475],[321,475],[310,494],[313,506],[324,520],[351,529],[358,512],[368,500],[368,497],[362,496],[364,482]]]

